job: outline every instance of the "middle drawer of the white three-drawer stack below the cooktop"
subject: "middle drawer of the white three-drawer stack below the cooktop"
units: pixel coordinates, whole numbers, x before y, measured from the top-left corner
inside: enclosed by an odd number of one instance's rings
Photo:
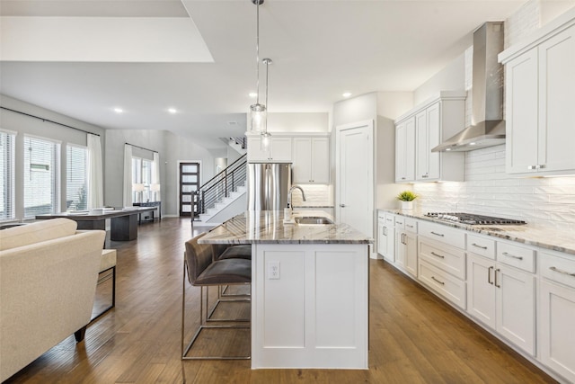
[[[465,251],[453,246],[420,237],[420,258],[439,269],[451,273],[458,279],[465,279]]]

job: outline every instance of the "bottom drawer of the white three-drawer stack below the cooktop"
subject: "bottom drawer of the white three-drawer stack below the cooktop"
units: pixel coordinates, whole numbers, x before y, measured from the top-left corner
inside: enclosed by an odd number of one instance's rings
[[[420,260],[420,281],[424,282],[439,295],[465,309],[465,282],[441,271],[433,265]]]

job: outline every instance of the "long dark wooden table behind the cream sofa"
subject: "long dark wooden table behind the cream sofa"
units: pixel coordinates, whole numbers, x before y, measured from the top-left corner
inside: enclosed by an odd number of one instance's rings
[[[137,218],[140,213],[156,210],[156,208],[136,208],[133,210],[106,210],[102,214],[91,212],[60,212],[47,215],[37,215],[36,219],[65,218],[75,220],[78,229],[106,230],[106,219],[110,219],[110,238],[113,241],[128,241],[137,239]]]

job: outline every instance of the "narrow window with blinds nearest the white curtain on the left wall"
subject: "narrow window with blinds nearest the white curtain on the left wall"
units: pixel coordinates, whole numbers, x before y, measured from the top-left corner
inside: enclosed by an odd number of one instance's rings
[[[66,210],[87,210],[88,148],[66,147]]]

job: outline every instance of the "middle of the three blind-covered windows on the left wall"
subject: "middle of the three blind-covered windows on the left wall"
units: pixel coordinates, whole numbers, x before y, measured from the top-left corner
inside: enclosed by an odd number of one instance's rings
[[[59,152],[54,141],[24,137],[24,218],[59,210]]]

